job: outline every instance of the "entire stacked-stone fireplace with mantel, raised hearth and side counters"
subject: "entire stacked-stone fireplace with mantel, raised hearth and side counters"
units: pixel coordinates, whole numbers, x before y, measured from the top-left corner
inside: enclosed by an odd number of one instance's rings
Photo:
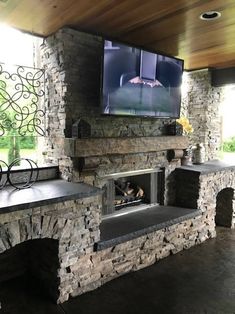
[[[235,185],[234,168],[184,168],[179,158],[168,160],[169,150],[188,147],[186,136],[164,134],[172,120],[100,116],[101,47],[100,37],[70,29],[45,40],[44,155],[58,164],[63,180],[17,191],[45,199],[3,204],[0,211],[0,253],[30,241],[30,246],[55,241],[51,251],[58,281],[50,294],[57,302],[214,237],[216,196]],[[73,138],[79,119],[90,126],[89,136]],[[115,185],[124,194],[121,204]],[[50,188],[59,194],[48,200]],[[137,210],[136,204],[123,206],[132,197],[129,188],[139,193]],[[9,202],[7,191],[4,195]],[[18,198],[27,199],[24,194]],[[116,212],[128,214],[113,217]]]

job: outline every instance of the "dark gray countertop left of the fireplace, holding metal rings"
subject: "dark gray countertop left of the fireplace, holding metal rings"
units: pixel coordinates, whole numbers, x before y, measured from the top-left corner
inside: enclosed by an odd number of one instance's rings
[[[91,185],[71,183],[61,179],[36,182],[32,187],[24,190],[6,187],[0,190],[0,214],[101,193],[101,189]]]

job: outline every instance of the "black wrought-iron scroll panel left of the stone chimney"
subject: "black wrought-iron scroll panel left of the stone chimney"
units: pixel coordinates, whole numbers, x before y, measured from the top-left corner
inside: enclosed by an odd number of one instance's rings
[[[45,136],[44,95],[44,70],[0,64],[0,136],[9,130]]]

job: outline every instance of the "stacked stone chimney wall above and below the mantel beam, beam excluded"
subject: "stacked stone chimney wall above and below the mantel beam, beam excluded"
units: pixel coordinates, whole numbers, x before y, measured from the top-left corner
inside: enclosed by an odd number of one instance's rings
[[[63,138],[71,137],[72,124],[82,118],[91,125],[91,137],[147,137],[163,134],[169,119],[102,116],[100,110],[102,38],[69,28],[59,30],[41,46],[41,66],[46,70],[48,139],[46,161],[60,166],[63,178],[98,184],[99,173],[168,165],[166,151],[91,157],[87,171],[79,172],[77,158],[63,150]],[[98,167],[97,167],[98,164]],[[94,167],[95,165],[95,167]]]

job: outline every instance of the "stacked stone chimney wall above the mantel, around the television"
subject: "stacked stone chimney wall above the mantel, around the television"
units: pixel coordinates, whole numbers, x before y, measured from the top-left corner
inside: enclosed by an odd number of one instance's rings
[[[41,65],[46,69],[49,134],[71,137],[78,118],[90,123],[92,137],[162,134],[166,119],[101,115],[102,56],[99,36],[64,28],[44,40]]]

